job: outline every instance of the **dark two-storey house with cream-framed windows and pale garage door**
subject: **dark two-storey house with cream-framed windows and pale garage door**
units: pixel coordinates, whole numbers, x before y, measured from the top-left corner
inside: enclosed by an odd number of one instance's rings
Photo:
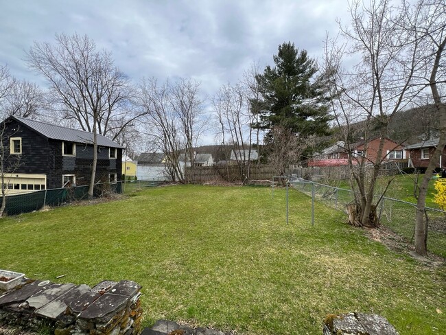
[[[5,174],[8,194],[90,183],[93,132],[14,116],[1,128],[6,163],[19,157],[19,166]],[[120,181],[123,147],[102,135],[97,146],[96,182]]]

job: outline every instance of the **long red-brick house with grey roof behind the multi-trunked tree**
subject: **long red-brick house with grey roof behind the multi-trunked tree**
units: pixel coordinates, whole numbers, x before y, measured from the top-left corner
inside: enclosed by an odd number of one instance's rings
[[[370,141],[359,141],[357,143],[350,144],[350,150],[352,150],[353,157],[357,159],[353,160],[353,163],[360,161],[361,157],[367,159],[368,162],[374,163],[377,160],[377,152],[379,150],[379,143],[381,139],[376,137]],[[384,139],[384,147],[382,149],[384,161],[406,161],[406,150],[404,146],[392,141],[391,139]],[[322,150],[320,154],[316,154],[314,159],[308,162],[309,166],[340,166],[347,165],[348,162],[348,150],[343,141],[338,141],[333,146]]]

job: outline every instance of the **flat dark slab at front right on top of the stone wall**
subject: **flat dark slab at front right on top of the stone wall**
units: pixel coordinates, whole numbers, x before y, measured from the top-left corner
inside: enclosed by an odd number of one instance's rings
[[[111,312],[119,312],[128,302],[128,297],[118,294],[106,293],[99,297],[83,310],[78,318],[80,319],[100,319]]]

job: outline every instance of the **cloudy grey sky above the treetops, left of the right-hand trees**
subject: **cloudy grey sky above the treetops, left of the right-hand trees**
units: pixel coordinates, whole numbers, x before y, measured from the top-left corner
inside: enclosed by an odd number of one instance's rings
[[[236,82],[252,62],[263,68],[284,41],[320,58],[347,0],[0,0],[0,65],[43,84],[25,51],[54,34],[88,34],[113,52],[134,82],[143,76],[193,78],[207,95]]]

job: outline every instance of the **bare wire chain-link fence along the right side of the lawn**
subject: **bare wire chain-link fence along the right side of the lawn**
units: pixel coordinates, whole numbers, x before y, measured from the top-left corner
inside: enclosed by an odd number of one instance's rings
[[[345,211],[346,205],[353,203],[353,191],[350,189],[313,183],[316,201],[340,211]],[[296,183],[292,187],[312,196],[312,183]],[[378,200],[379,196],[376,197]],[[432,253],[446,257],[446,211],[430,207],[425,207],[425,210],[427,214],[427,249]],[[377,207],[377,213],[382,226],[401,236],[407,244],[414,243],[416,204],[383,197]]]

